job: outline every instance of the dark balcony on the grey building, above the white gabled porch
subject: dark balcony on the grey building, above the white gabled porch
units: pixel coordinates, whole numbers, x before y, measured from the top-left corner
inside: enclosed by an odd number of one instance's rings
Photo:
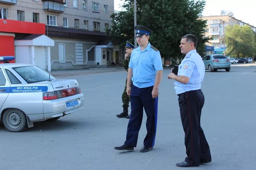
[[[52,11],[52,12],[64,12],[64,4],[66,4],[66,0],[42,0],[43,1],[43,9]]]

